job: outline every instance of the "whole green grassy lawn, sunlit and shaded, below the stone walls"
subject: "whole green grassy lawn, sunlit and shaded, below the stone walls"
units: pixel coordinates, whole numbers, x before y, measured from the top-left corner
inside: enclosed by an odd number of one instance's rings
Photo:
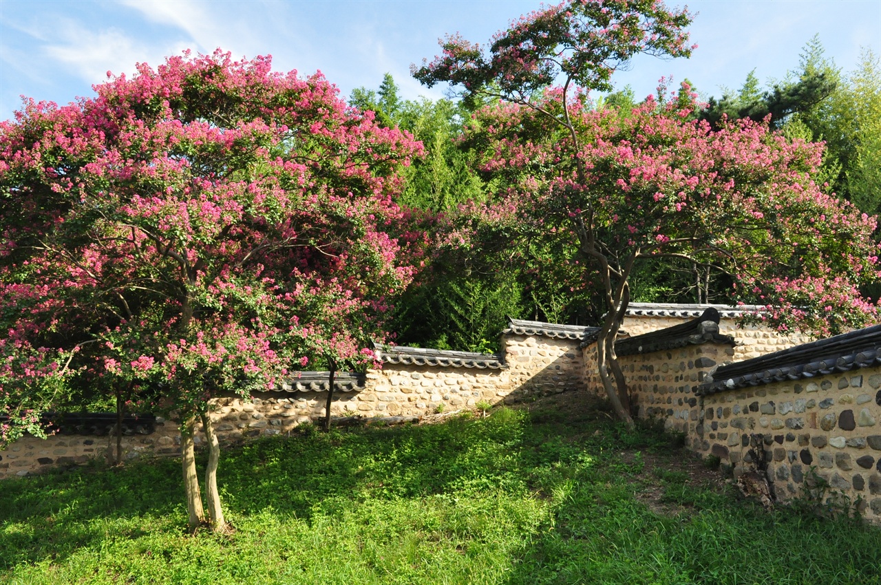
[[[185,533],[176,460],[5,480],[0,581],[881,583],[881,529],[766,513],[581,400],[228,448],[228,537]]]

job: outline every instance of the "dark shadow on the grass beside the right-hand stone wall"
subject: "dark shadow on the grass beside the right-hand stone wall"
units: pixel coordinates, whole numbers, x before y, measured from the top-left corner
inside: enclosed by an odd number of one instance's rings
[[[688,454],[669,455],[674,460]],[[575,485],[559,500],[552,520],[556,529],[532,539],[504,582],[881,582],[877,526],[846,515],[806,515],[794,507],[766,512],[733,486],[709,489],[694,485],[684,471],[662,469],[649,480],[678,509],[665,515],[635,497],[646,479],[621,469],[622,463],[607,461],[598,477]]]

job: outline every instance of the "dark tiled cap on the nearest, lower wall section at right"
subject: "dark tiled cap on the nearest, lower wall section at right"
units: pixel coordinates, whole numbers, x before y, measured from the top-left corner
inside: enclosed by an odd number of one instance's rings
[[[881,365],[881,325],[873,325],[719,367],[696,394],[714,394],[878,365]]]

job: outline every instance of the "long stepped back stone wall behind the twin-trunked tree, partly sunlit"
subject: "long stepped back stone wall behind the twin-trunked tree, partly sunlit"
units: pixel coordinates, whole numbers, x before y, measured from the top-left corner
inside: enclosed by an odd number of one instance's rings
[[[501,359],[463,352],[432,352],[433,359],[419,360],[425,362],[422,365],[387,362],[381,369],[368,370],[362,384],[337,384],[331,416],[389,423],[415,421],[438,411],[472,408],[479,402],[513,403],[532,396],[581,389],[579,336],[557,338],[510,332],[502,339]],[[255,394],[251,400],[233,396],[214,400],[211,419],[218,438],[230,444],[285,434],[301,424],[322,419],[328,384],[324,383],[322,388],[315,379],[311,376],[309,383],[292,381],[278,391]],[[123,456],[130,460],[146,455],[179,455],[180,441],[177,423],[157,418],[152,433],[123,435]],[[202,441],[204,436],[197,432],[196,444]],[[112,462],[115,446],[113,434],[56,434],[47,440],[25,437],[0,451],[0,478],[59,465],[84,464],[91,459]]]

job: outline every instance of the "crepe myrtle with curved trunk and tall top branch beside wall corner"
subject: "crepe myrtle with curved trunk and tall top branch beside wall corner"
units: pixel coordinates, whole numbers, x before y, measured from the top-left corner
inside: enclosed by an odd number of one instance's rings
[[[832,332],[873,311],[856,286],[877,278],[875,219],[812,180],[821,145],[790,141],[766,122],[718,130],[692,122],[696,96],[687,85],[627,115],[590,107],[587,91],[609,90],[611,73],[637,53],[689,55],[690,20],[649,0],[566,2],[516,21],[488,53],[448,38],[441,56],[413,71],[426,85],[446,81],[466,97],[498,99],[466,130],[485,178],[499,185],[495,201],[470,213],[497,224],[517,219],[500,233],[570,241],[566,261],[582,267],[581,287],[603,300],[598,374],[631,425],[614,342],[629,278],[644,259],[685,259],[731,275],[733,299],[767,305],[781,329]]]

